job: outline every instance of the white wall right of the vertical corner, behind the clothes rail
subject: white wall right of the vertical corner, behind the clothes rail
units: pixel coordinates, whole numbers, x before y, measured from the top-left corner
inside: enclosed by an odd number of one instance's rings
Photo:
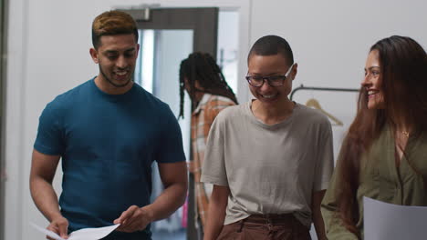
[[[283,1],[254,0],[251,6],[251,44],[263,35],[281,35],[298,63],[294,88],[307,86],[359,88],[370,46],[391,35],[408,35],[427,49],[427,1]],[[357,94],[298,91],[294,100],[316,98],[322,108],[340,119],[333,126],[334,150],[356,111]]]

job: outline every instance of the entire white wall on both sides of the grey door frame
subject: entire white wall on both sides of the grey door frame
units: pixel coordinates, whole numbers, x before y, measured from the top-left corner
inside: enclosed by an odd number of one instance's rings
[[[92,19],[113,6],[141,3],[152,2],[10,1],[5,239],[42,238],[28,226],[29,221],[47,225],[28,190],[38,116],[56,95],[97,74],[98,67],[89,58]],[[239,76],[242,82],[238,92],[241,102],[248,98],[243,78],[245,57],[249,45],[262,35],[282,35],[289,41],[299,63],[295,85],[359,87],[370,45],[385,36],[410,35],[424,47],[427,45],[427,15],[424,13],[427,2],[423,0],[163,0],[155,3],[239,7]],[[318,92],[308,95],[321,98],[321,104],[325,104],[324,108],[330,113],[346,113],[343,117],[351,118],[351,112],[347,111],[354,107],[354,98]],[[303,95],[298,94],[298,97],[302,103],[306,100]],[[58,182],[57,179],[56,185]]]

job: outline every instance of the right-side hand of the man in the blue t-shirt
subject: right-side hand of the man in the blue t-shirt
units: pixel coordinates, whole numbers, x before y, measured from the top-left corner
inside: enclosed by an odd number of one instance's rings
[[[114,224],[120,224],[117,231],[133,233],[142,231],[152,222],[152,214],[146,207],[131,205],[120,217],[114,220]]]

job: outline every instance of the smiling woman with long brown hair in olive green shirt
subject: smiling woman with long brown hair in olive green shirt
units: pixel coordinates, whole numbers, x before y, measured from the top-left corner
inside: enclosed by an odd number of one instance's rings
[[[358,113],[322,203],[328,239],[363,239],[363,196],[427,205],[427,55],[410,37],[372,45]]]

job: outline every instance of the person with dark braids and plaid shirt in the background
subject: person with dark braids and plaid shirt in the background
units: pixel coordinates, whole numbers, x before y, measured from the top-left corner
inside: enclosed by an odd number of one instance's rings
[[[203,233],[212,185],[200,182],[206,139],[213,120],[221,110],[236,105],[233,90],[225,82],[221,68],[212,55],[196,52],[180,66],[180,115],[183,118],[184,90],[192,100],[192,160],[189,171],[194,176],[195,222]]]

